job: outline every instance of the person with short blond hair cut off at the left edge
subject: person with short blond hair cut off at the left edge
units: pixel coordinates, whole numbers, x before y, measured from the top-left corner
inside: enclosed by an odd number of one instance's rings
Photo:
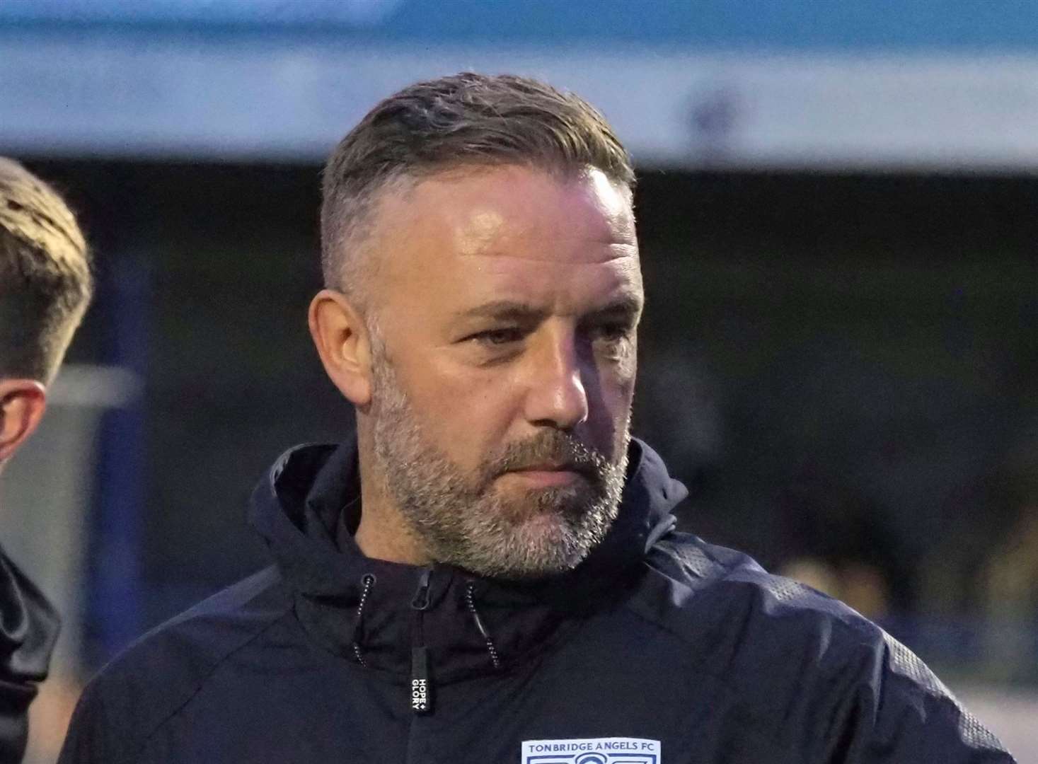
[[[0,469],[39,424],[90,292],[86,243],[69,208],[0,157]],[[57,630],[39,590],[0,551],[0,762],[22,760]]]

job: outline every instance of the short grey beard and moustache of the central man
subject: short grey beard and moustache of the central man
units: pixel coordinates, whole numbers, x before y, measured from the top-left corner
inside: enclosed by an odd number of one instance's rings
[[[575,568],[602,542],[620,509],[629,416],[614,463],[568,433],[545,430],[488,458],[468,478],[427,442],[391,365],[375,355],[378,471],[432,560],[483,576],[536,578]],[[510,467],[546,460],[574,463],[581,479],[531,490],[521,502],[494,492],[494,479]]]

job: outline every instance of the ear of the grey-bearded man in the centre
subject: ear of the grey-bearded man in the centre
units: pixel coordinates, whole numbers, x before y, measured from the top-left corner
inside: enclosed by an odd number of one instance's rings
[[[372,400],[372,348],[360,313],[346,295],[321,290],[310,301],[308,323],[332,383],[354,406],[366,406]]]

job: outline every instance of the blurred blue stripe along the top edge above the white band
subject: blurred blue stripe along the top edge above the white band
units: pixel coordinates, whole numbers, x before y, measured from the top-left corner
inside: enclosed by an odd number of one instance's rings
[[[1038,49],[1031,0],[32,0],[0,26],[305,32],[346,38],[689,50]]]

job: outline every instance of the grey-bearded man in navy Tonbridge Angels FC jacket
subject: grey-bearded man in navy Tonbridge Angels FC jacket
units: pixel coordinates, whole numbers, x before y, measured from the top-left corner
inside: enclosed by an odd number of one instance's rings
[[[131,648],[62,762],[1009,762],[849,608],[674,530],[628,435],[631,163],[464,74],[338,145],[309,327],[356,438],[253,495],[276,564]]]

